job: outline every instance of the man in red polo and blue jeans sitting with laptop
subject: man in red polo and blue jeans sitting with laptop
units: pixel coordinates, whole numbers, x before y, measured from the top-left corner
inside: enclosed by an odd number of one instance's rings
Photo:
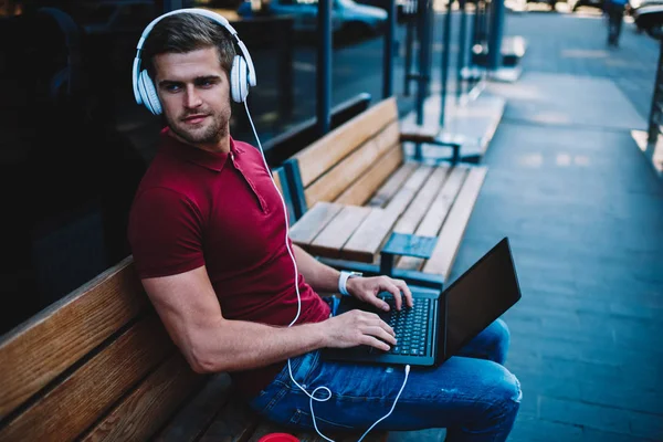
[[[339,272],[286,243],[283,204],[261,152],[229,134],[234,55],[223,27],[191,13],[164,18],[145,41],[168,127],[131,208],[136,267],[193,370],[229,371],[249,403],[276,422],[312,429],[314,411],[323,432],[366,430],[389,412],[402,371],[327,362],[318,350],[387,350],[393,330],[371,313],[333,316],[318,293],[338,292]],[[356,276],[346,284],[380,308],[388,308],[377,297],[382,291],[397,308],[412,306],[403,281]],[[473,357],[412,370],[394,412],[377,428],[506,440],[520,400],[517,379],[502,366],[507,347],[498,320],[465,348]]]

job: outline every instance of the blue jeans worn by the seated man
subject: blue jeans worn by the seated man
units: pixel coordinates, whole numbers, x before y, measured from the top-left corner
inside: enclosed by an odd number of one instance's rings
[[[506,324],[497,319],[462,350],[435,368],[412,368],[391,415],[375,430],[445,428],[448,442],[505,441],[522,398],[516,377],[503,367],[509,344]],[[320,360],[319,351],[291,359],[295,380],[309,393],[332,390],[313,401],[317,428],[328,435],[364,432],[391,410],[403,380],[398,367]],[[315,397],[326,398],[325,391]],[[313,430],[309,397],[290,377],[287,365],[250,406],[274,422]]]

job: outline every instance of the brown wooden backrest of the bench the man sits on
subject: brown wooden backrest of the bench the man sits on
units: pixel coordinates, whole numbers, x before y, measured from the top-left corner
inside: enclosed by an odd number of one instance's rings
[[[129,256],[0,338],[0,440],[146,440],[204,379]]]

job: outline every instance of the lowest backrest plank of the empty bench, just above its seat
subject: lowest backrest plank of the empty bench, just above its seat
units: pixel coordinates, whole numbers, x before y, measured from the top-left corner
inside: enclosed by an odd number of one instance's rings
[[[348,187],[334,202],[362,206],[376,189],[403,162],[400,144],[393,145],[366,173]]]

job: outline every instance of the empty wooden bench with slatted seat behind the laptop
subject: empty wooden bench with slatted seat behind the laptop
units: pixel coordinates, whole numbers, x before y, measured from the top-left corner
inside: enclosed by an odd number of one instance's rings
[[[381,273],[393,233],[410,235],[410,246],[435,238],[430,254],[401,256],[393,269],[397,277],[435,285],[451,273],[487,168],[406,161],[401,144],[419,138],[400,125],[388,98],[284,164],[294,193],[291,238],[335,267],[371,274]]]

